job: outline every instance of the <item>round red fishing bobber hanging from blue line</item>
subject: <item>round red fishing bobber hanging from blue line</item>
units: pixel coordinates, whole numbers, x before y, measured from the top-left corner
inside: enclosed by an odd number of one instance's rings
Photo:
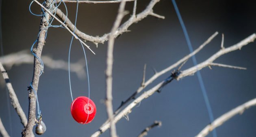
[[[77,97],[71,104],[71,114],[76,122],[88,124],[95,117],[96,106],[88,97]]]

